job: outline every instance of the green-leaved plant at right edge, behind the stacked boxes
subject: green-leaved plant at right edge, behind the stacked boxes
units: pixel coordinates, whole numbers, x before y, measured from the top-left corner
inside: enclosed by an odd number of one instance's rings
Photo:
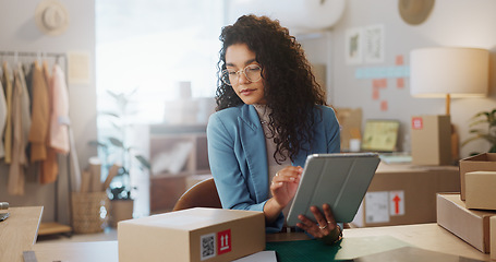
[[[473,128],[481,124],[486,127],[486,129]],[[465,145],[474,140],[483,139],[491,143],[488,153],[496,153],[496,109],[493,109],[492,111],[477,112],[472,117],[470,127],[472,128],[470,129],[470,133],[473,134],[473,136],[463,141],[462,145]]]

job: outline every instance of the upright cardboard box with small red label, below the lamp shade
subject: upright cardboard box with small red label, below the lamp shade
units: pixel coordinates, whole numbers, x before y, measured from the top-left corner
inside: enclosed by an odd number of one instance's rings
[[[414,116],[410,135],[412,164],[451,164],[451,120],[449,116]]]

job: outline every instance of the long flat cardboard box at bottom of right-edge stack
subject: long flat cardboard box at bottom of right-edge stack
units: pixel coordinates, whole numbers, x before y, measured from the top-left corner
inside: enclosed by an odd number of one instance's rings
[[[489,218],[494,211],[465,207],[460,194],[437,194],[437,224],[481,252],[489,252]]]

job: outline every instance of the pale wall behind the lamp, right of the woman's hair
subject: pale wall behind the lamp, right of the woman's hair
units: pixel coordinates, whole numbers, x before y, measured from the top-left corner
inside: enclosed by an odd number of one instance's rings
[[[410,62],[409,53],[412,49],[422,47],[460,46],[486,48],[491,51],[491,64],[496,58],[496,33],[493,25],[496,23],[494,0],[436,0],[428,19],[420,25],[409,25],[399,14],[399,1],[391,0],[346,0],[344,13],[331,28],[320,32],[302,31],[294,23],[288,21],[294,7],[302,2],[317,2],[311,0],[294,0],[298,4],[286,4],[287,1],[271,3],[273,9],[263,10],[267,4],[253,4],[257,0],[230,1],[229,22],[243,14],[254,12],[280,19],[285,26],[291,25],[290,32],[297,34],[297,39],[303,45],[309,60],[312,63],[327,66],[327,95],[335,107],[361,107],[363,119],[398,119],[402,123],[399,145],[410,133],[410,118],[413,115],[443,115],[445,100],[413,98],[410,96],[409,79],[406,78],[403,88],[396,87],[396,79],[388,79],[388,87],[380,90],[379,99],[372,98],[372,80],[355,79],[359,68],[392,67],[397,56],[403,56],[404,66]],[[283,3],[282,3],[283,2]],[[326,1],[340,4],[340,1]],[[253,8],[256,7],[256,8]],[[277,8],[276,8],[277,7]],[[313,7],[312,4],[309,7]],[[312,9],[301,10],[306,14]],[[328,11],[329,15],[334,15]],[[280,17],[277,15],[279,14]],[[286,15],[285,15],[286,14]],[[315,16],[322,16],[322,10],[315,11]],[[339,15],[338,15],[339,16]],[[315,17],[317,19],[317,17]],[[298,19],[295,19],[298,20]],[[380,63],[347,64],[344,57],[346,31],[353,27],[383,24],[385,28],[385,60]],[[491,67],[489,97],[465,98],[451,100],[451,122],[458,130],[460,141],[469,135],[469,122],[472,116],[482,110],[492,110],[496,107],[496,69]],[[388,109],[380,109],[380,102],[387,100]],[[408,146],[407,146],[408,147]],[[487,142],[477,141],[461,147],[461,157],[470,152],[484,152],[489,148]],[[407,148],[409,150],[409,148]]]

